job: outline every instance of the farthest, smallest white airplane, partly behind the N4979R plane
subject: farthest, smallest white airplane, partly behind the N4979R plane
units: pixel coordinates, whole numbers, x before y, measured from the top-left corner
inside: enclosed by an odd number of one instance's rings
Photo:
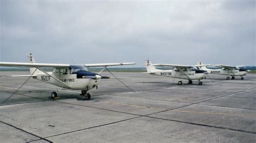
[[[197,64],[199,65],[199,69],[206,70],[210,74],[227,75],[227,80],[230,80],[230,76],[232,76],[232,80],[235,78],[234,76],[241,76],[241,80],[244,80],[244,77],[242,76],[246,76],[248,71],[250,71],[241,68],[244,66],[213,65],[221,69],[208,69],[202,62],[197,62]]]

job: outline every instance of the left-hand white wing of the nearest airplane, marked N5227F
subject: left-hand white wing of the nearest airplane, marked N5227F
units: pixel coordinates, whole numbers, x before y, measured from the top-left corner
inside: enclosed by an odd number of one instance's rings
[[[42,67],[66,68],[66,67],[69,67],[70,65],[55,64],[55,63],[0,62],[0,66],[3,66],[3,67],[30,67],[30,68],[42,68]]]

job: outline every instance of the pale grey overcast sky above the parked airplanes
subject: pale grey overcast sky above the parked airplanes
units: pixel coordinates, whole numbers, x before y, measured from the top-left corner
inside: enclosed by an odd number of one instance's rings
[[[0,1],[0,61],[256,65],[254,0]]]

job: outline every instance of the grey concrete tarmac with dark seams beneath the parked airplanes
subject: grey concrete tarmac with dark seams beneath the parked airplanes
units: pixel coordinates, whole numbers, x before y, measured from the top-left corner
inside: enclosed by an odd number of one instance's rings
[[[28,77],[0,72],[0,103]],[[244,80],[212,75],[179,79],[142,73],[103,72],[91,99],[80,91],[29,79],[0,105],[0,142],[255,142],[256,74]]]

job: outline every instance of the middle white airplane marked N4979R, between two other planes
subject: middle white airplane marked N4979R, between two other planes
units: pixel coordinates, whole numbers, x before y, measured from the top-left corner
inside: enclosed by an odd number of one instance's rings
[[[198,80],[199,85],[203,83],[200,80],[203,80],[207,76],[207,71],[199,70],[196,66],[186,66],[186,65],[167,65],[167,64],[152,64],[152,62],[147,59],[145,60],[146,69],[149,74],[160,75],[166,77],[180,78],[188,80],[188,84],[192,84],[192,80]],[[160,70],[156,67],[175,67],[173,70]],[[181,85],[182,81],[178,82],[178,85]]]

